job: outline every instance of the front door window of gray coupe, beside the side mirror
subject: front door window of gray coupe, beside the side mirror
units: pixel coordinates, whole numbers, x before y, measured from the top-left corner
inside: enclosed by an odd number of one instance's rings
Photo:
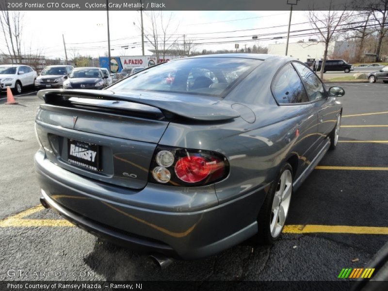
[[[322,99],[324,97],[324,89],[321,80],[305,65],[300,63],[293,63],[302,77],[305,84],[307,94],[310,101]]]

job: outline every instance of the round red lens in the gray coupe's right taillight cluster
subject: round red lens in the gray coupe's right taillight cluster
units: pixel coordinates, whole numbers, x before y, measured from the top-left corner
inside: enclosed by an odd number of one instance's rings
[[[175,174],[182,181],[195,183],[208,177],[212,165],[202,157],[184,157],[175,164]]]

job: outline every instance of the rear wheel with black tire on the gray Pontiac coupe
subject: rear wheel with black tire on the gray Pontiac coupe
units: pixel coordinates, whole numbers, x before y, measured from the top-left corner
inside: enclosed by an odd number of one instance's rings
[[[286,163],[272,183],[259,211],[259,231],[254,238],[257,243],[273,244],[280,237],[290,209],[292,180],[292,167]]]

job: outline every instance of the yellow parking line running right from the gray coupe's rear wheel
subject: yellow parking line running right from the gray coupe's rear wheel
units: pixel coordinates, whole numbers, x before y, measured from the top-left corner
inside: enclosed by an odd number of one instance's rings
[[[284,226],[285,233],[353,233],[353,234],[388,234],[388,227],[376,226],[321,226],[321,225],[289,225]]]

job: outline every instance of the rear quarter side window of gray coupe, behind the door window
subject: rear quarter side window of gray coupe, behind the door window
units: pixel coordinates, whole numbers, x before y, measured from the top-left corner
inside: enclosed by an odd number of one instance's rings
[[[291,64],[285,65],[276,74],[272,92],[279,104],[308,102],[302,81]]]

